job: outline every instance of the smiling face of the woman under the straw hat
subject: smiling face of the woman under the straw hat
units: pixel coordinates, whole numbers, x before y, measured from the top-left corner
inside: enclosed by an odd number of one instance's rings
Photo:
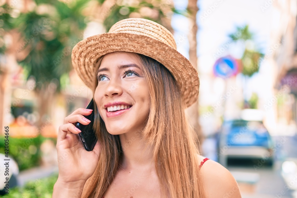
[[[150,96],[142,64],[129,52],[106,54],[98,69],[94,100],[110,134],[142,130]]]

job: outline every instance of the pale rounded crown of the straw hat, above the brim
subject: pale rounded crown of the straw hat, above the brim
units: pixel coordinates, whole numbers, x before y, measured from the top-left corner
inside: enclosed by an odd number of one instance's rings
[[[165,27],[154,21],[141,18],[128,18],[115,23],[108,33],[138,34],[159,40],[176,50],[176,42],[173,35]]]

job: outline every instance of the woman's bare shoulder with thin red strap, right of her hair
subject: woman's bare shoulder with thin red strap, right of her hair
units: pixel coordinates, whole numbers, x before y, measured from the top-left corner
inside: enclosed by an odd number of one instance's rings
[[[205,157],[198,155],[198,163],[201,162],[203,166],[200,174],[206,197],[241,197],[238,184],[229,170],[216,161],[211,159],[206,161]]]

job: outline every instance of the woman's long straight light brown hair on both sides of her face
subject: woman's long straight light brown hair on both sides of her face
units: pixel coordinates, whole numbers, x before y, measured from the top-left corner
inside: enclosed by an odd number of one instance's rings
[[[153,148],[154,167],[165,197],[203,198],[198,147],[194,131],[185,117],[182,96],[176,80],[158,61],[136,54],[143,65],[150,94],[150,111],[141,136]],[[95,71],[103,57],[98,59]],[[98,85],[94,74],[94,88]],[[119,135],[109,134],[94,105],[98,141],[102,145],[97,169],[84,186],[82,197],[103,197],[121,164],[123,150]]]

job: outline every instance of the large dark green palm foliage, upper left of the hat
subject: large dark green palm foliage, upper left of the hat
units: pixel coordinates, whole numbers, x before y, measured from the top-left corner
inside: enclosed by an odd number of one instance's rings
[[[23,43],[18,51],[25,50],[26,58],[20,64],[33,76],[36,88],[45,90],[55,83],[60,90],[60,79],[71,69],[71,51],[82,39],[86,27],[82,9],[89,1],[78,0],[67,5],[58,0],[36,1],[47,12],[22,13],[17,20],[18,30],[23,34]]]

